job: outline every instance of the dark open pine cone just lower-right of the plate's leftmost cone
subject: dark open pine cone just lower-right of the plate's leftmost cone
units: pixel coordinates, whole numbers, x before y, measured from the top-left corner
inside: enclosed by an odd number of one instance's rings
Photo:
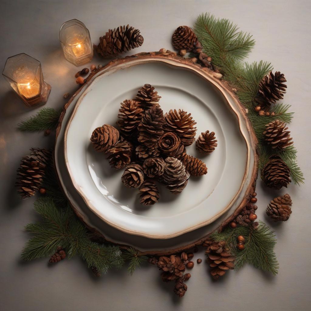
[[[133,149],[132,143],[122,138],[109,149],[107,157],[109,164],[115,169],[123,169],[123,167],[131,163]]]

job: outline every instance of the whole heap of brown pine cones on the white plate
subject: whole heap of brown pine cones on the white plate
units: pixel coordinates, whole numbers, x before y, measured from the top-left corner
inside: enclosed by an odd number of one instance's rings
[[[125,168],[121,180],[128,188],[139,189],[143,205],[159,201],[155,181],[179,194],[190,175],[207,173],[204,162],[186,153],[185,146],[195,141],[197,131],[191,114],[181,109],[163,114],[160,98],[154,87],[145,84],[133,100],[121,103],[119,130],[104,124],[91,136],[95,150],[104,152],[112,167]],[[214,132],[201,133],[196,141],[203,154],[210,154],[216,146]]]

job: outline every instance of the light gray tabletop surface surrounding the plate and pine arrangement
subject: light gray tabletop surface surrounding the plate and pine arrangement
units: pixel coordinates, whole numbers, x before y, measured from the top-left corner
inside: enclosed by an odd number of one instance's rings
[[[131,3],[132,2],[132,3]],[[195,265],[188,291],[179,299],[173,284],[160,280],[155,267],[146,266],[134,276],[126,269],[95,279],[78,258],[53,267],[48,258],[21,262],[20,253],[29,235],[24,225],[37,219],[34,198],[21,201],[16,194],[15,170],[29,148],[53,145],[53,135],[23,133],[16,124],[34,114],[0,77],[0,171],[1,171],[1,310],[310,310],[310,15],[309,1],[3,1],[1,12],[0,67],[7,57],[28,53],[42,63],[52,91],[46,107],[59,108],[63,94],[77,89],[77,68],[68,63],[58,42],[64,21],[77,18],[89,28],[97,43],[108,28],[130,24],[139,28],[144,44],[134,53],[172,49],[170,39],[180,25],[193,25],[201,12],[229,18],[253,34],[257,44],[249,58],[268,60],[285,73],[295,118],[290,125],[298,161],[306,183],[288,190],[293,214],[286,223],[274,225],[265,217],[265,207],[274,192],[258,182],[258,218],[276,230],[279,275],[271,277],[251,266],[230,271],[214,283],[207,265]],[[103,63],[97,56],[93,62]],[[82,66],[83,67],[83,66]],[[81,68],[82,68],[81,67]],[[2,69],[1,69],[2,70]],[[202,251],[195,254],[203,258]]]

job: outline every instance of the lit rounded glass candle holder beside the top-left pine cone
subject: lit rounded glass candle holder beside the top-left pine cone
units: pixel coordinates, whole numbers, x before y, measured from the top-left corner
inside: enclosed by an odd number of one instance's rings
[[[80,66],[92,60],[90,32],[81,21],[73,19],[63,23],[59,30],[59,41],[65,58],[70,63]]]

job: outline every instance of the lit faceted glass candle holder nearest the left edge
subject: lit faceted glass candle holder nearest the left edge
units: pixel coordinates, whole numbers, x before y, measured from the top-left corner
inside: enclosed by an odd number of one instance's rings
[[[51,86],[44,81],[41,63],[35,58],[25,53],[9,57],[2,75],[28,107],[48,100]]]

